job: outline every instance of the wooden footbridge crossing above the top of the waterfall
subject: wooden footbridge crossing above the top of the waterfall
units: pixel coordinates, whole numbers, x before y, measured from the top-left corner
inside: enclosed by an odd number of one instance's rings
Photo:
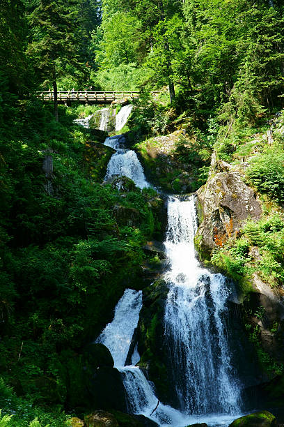
[[[158,96],[161,91],[152,92],[152,96]],[[37,92],[38,98],[42,98],[45,101],[54,100],[53,91],[42,91]],[[58,91],[57,100],[58,103],[71,103],[79,101],[81,103],[93,103],[93,104],[111,104],[115,100],[123,99],[137,99],[140,96],[140,92],[97,92],[97,91]]]

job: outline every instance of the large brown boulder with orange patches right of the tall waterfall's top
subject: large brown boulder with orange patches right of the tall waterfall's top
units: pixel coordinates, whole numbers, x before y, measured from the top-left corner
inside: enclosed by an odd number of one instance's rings
[[[262,209],[253,189],[239,172],[221,172],[197,191],[201,223],[196,234],[200,257],[208,257],[216,246],[235,237],[244,220],[260,219]]]

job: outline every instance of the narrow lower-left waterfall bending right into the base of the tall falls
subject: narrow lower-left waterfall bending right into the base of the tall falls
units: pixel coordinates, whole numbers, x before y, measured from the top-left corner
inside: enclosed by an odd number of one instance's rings
[[[142,308],[142,292],[132,289],[125,290],[123,297],[116,306],[113,321],[104,328],[100,336],[95,340],[108,347],[113,357],[114,366],[123,375],[123,384],[127,393],[127,406],[129,412],[143,414],[150,417],[160,426],[184,426],[184,416],[170,406],[159,404],[155,413],[158,399],[155,396],[154,386],[148,382],[142,370],[136,366],[124,366],[129,347],[136,329],[139,313]],[[132,354],[132,362],[139,357],[137,347]],[[140,359],[140,357],[139,357]],[[173,423],[174,421],[174,424]]]

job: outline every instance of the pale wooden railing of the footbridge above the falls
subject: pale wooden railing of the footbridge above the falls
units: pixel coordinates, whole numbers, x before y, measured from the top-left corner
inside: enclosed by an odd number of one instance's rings
[[[158,96],[161,91],[152,91],[152,96]],[[54,91],[38,91],[37,96],[43,100],[54,100]],[[137,99],[137,91],[58,91],[58,100],[116,100],[121,98]]]

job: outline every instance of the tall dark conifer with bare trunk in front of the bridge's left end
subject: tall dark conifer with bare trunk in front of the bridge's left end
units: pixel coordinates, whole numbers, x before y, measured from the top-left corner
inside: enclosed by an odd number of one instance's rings
[[[66,67],[80,67],[74,38],[74,1],[40,0],[40,5],[29,17],[33,26],[33,41],[28,53],[42,73],[45,84],[54,88],[54,115],[58,121],[57,80],[65,75]]]

